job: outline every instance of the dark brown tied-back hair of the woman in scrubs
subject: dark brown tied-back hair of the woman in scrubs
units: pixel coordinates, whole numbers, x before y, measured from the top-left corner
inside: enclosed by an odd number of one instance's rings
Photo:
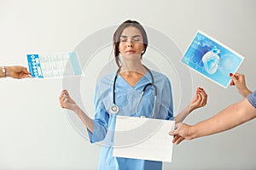
[[[118,28],[117,30],[114,32],[113,34],[113,51],[114,51],[114,58],[115,58],[115,62],[116,64],[120,67],[120,63],[119,63],[119,42],[120,42],[120,36],[122,34],[122,32],[125,30],[125,28],[127,26],[134,26],[136,27],[139,31],[141,31],[141,34],[143,36],[143,45],[144,45],[144,51],[143,54],[145,54],[146,49],[148,47],[148,37],[147,37],[147,33],[144,30],[143,26],[140,25],[136,20],[125,20],[125,22],[123,22]],[[143,54],[142,57],[143,57]]]

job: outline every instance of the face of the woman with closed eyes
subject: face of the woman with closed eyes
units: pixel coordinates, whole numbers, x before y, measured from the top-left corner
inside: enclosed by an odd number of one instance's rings
[[[141,31],[134,26],[127,26],[121,33],[119,42],[119,54],[124,56],[138,56],[143,53],[143,36]]]

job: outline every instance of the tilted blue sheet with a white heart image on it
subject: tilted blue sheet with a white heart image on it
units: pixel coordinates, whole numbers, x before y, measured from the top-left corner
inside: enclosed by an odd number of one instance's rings
[[[244,57],[202,31],[197,31],[181,62],[212,82],[227,88]]]

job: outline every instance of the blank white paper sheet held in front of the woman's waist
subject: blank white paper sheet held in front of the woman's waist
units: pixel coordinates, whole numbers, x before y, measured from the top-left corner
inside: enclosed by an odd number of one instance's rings
[[[172,161],[174,121],[116,116],[113,156]]]

